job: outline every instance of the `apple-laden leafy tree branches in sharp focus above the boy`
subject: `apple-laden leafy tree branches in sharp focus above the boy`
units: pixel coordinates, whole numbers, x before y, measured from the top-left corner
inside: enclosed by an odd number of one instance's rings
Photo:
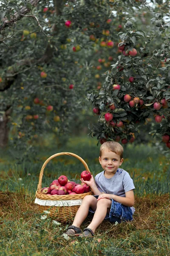
[[[119,32],[121,53],[111,72],[104,74],[100,91],[88,94],[99,116],[91,136],[97,136],[100,143],[133,143],[142,129],[139,127],[153,117],[150,132],[170,148],[170,31],[164,19],[169,17],[169,9],[164,15],[164,7],[155,8],[150,20],[154,29],[150,26],[148,32],[139,30],[133,19],[125,19],[125,30]]]

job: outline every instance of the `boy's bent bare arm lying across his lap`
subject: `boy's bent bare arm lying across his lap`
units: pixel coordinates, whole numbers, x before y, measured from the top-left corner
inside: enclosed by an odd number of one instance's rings
[[[118,196],[118,195],[111,195],[111,194],[102,194],[99,195],[97,200],[100,200],[102,198],[108,198],[108,199],[113,199],[114,201],[121,203],[125,206],[132,207],[134,205],[134,193],[133,189],[130,191],[125,192],[126,197]]]

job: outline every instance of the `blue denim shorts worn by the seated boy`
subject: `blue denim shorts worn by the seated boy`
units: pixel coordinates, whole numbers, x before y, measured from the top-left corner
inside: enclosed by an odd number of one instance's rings
[[[99,195],[94,195],[95,198],[98,198]],[[133,221],[133,213],[130,207],[120,204],[113,199],[111,199],[111,210],[109,214],[106,214],[105,220],[110,222],[118,222],[121,223],[122,221]],[[94,214],[94,211],[89,208],[89,215]]]

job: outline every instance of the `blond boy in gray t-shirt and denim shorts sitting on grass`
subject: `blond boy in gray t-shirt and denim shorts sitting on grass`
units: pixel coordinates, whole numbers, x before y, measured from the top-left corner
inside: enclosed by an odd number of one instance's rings
[[[94,232],[104,219],[111,222],[132,221],[135,209],[133,180],[119,166],[123,163],[123,147],[117,142],[107,141],[100,147],[99,163],[104,171],[92,175],[91,180],[85,181],[91,187],[94,195],[87,195],[82,200],[73,224],[68,227],[68,236],[94,236]],[[88,213],[94,214],[87,228],[80,229]],[[80,234],[80,235],[79,235]]]

